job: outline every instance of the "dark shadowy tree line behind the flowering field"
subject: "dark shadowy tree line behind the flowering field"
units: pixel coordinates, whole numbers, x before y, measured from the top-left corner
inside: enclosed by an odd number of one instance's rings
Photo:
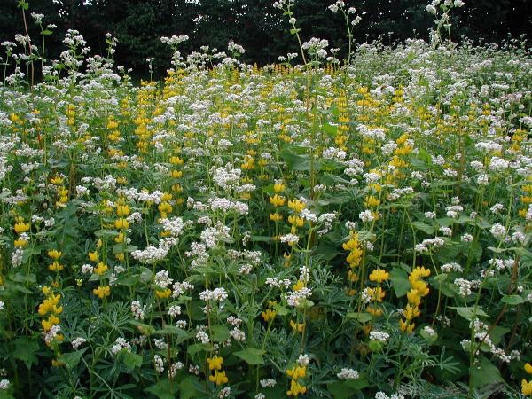
[[[64,50],[61,38],[66,29],[77,29],[93,54],[106,51],[105,34],[119,40],[115,59],[121,65],[147,71],[145,59],[162,71],[169,66],[170,51],[160,43],[163,35],[189,35],[183,51],[197,51],[201,45],[226,49],[232,39],[246,48],[243,59],[266,64],[278,55],[297,51],[289,26],[274,9],[272,0],[28,0],[30,12],[45,14],[44,24],[58,27],[47,36],[47,58],[57,59]],[[428,0],[346,0],[355,6],[362,22],[355,28],[357,43],[383,35],[384,43],[411,37],[427,38],[432,16],[425,11]],[[0,41],[13,41],[24,32],[18,0],[0,0]],[[342,51],[347,48],[344,21],[326,10],[332,0],[297,0],[295,15],[303,38],[328,39]],[[466,0],[455,13],[453,35],[476,42],[500,43],[507,35],[530,32],[530,0]],[[28,16],[29,32],[39,29]],[[40,40],[35,40],[39,45]],[[340,56],[345,52],[340,51]]]

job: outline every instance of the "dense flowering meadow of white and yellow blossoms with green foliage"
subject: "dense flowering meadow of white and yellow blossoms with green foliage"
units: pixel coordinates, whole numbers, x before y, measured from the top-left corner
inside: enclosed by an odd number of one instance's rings
[[[532,395],[526,45],[184,39],[4,44],[0,398]]]

